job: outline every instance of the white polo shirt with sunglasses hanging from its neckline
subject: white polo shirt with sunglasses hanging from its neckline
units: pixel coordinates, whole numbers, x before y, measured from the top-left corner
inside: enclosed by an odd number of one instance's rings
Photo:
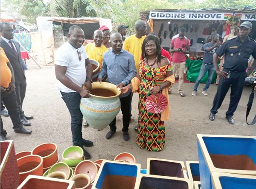
[[[81,52],[81,61],[79,61],[77,50]],[[70,45],[69,42],[66,42],[56,51],[55,64],[66,66],[66,76],[76,85],[81,87],[86,80],[85,59],[87,58],[88,56],[84,50],[84,46],[76,49]],[[63,85],[60,81],[58,81],[58,88],[64,93],[76,92]]]

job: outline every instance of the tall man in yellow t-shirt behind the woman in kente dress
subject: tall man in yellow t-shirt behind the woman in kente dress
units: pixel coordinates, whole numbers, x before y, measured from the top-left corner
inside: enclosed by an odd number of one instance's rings
[[[146,23],[143,20],[137,20],[135,22],[135,31],[136,34],[131,35],[125,39],[123,49],[125,51],[128,51],[134,56],[135,60],[135,66],[136,70],[138,71],[139,65],[140,65],[140,57],[141,57],[141,47],[143,44],[143,41],[145,39],[145,34],[147,31]],[[133,93],[131,93],[131,99],[132,99]],[[130,102],[130,119],[131,119],[131,102]],[[134,128],[135,130],[138,130],[138,125]]]

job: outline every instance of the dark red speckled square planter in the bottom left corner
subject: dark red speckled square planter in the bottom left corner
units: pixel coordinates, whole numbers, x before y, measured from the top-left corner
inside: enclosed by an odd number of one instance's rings
[[[19,185],[20,175],[17,166],[13,141],[1,141],[1,189],[13,189]]]

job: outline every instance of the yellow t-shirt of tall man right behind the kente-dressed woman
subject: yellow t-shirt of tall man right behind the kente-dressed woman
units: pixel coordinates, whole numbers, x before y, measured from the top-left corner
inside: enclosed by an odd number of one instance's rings
[[[139,39],[135,36],[135,34],[131,35],[125,39],[125,42],[123,45],[123,49],[125,51],[128,51],[129,53],[131,53],[134,56],[136,70],[138,70],[138,68],[139,68],[140,57],[141,57],[141,53],[142,53],[141,46],[143,44],[145,37],[146,36],[143,36]]]

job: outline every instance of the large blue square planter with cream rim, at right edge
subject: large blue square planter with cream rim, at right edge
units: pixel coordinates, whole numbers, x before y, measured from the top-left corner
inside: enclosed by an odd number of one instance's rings
[[[212,172],[256,175],[256,170],[221,169],[214,166],[214,155],[247,155],[256,164],[256,137],[233,135],[197,135],[201,187],[212,189]],[[255,187],[256,189],[256,187]]]

